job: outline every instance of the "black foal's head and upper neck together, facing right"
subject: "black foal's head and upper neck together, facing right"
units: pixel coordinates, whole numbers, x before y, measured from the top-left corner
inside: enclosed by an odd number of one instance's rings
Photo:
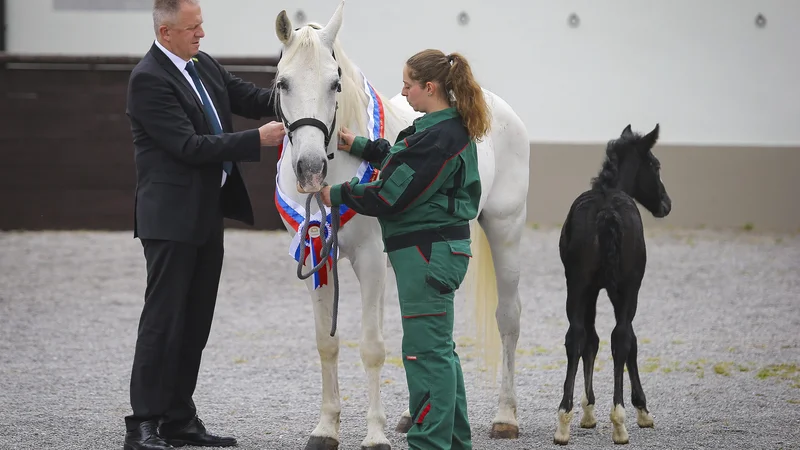
[[[661,163],[653,154],[658,141],[658,124],[642,136],[628,125],[606,148],[606,161],[593,180],[596,188],[619,188],[644,206],[654,217],[666,217],[672,200],[661,181]]]

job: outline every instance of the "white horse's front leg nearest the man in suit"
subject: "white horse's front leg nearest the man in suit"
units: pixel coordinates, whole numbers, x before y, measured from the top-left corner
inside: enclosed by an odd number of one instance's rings
[[[307,269],[306,269],[307,270]],[[325,270],[325,269],[322,269]],[[313,276],[306,280],[314,307],[314,328],[317,335],[317,351],[322,366],[322,408],[319,423],[306,444],[306,450],[336,450],[339,448],[339,415],[342,411],[339,399],[339,334],[331,337],[333,312],[333,285],[328,274],[328,285],[313,288]]]

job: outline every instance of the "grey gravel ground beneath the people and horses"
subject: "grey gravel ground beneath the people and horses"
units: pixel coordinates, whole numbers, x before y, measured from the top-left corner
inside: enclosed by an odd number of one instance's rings
[[[654,429],[630,447],[800,448],[800,236],[710,230],[649,234],[649,266],[634,321]],[[517,359],[521,435],[488,438],[497,388],[477,366],[467,315],[457,324],[476,449],[552,444],[566,357],[558,230],[528,230]],[[217,314],[195,401],[213,432],[244,449],[302,448],[318,418],[321,381],[310,301],[283,233],[229,231]],[[141,245],[130,233],[0,234],[0,448],[121,448],[144,290]],[[341,449],[366,433],[358,354],[360,302],[343,263],[339,333]],[[573,449],[612,448],[608,413],[613,313],[598,303],[598,425],[572,425]],[[459,297],[460,298],[460,297]],[[387,435],[405,408],[400,322],[387,286]],[[576,407],[582,377],[575,390]]]

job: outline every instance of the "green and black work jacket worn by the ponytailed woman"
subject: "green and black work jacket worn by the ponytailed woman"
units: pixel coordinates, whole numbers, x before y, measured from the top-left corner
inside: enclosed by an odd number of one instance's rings
[[[478,153],[455,108],[425,114],[401,131],[394,145],[358,136],[350,153],[380,169],[331,187],[331,204],[377,217],[383,238],[467,224],[478,212]]]

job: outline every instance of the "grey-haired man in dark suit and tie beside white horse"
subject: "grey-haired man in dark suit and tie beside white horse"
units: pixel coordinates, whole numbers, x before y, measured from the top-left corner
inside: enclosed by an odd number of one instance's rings
[[[223,259],[223,218],[252,225],[239,161],[259,161],[283,124],[233,132],[232,114],[275,116],[271,89],[230,74],[199,51],[197,0],[155,0],[156,41],[131,72],[127,114],[135,148],[134,237],[147,263],[125,448],[232,446],[207,432],[192,395],[208,340]],[[172,444],[172,445],[171,445]]]

